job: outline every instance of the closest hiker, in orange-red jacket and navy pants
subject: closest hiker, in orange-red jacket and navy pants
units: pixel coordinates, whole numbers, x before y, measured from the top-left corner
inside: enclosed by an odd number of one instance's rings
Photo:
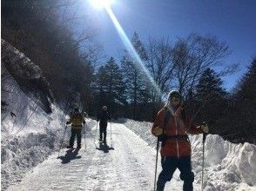
[[[166,181],[172,180],[174,171],[179,168],[180,179],[184,181],[183,190],[192,191],[194,174],[191,166],[191,144],[188,134],[208,133],[207,126],[196,127],[192,119],[185,115],[182,97],[172,90],[164,109],[158,112],[152,126],[152,134],[161,140],[162,171],[158,175],[157,190],[163,191]]]

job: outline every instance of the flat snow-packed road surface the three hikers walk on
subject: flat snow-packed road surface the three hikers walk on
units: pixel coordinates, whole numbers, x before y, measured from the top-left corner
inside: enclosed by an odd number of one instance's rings
[[[118,123],[112,124],[112,142],[110,127],[107,138],[108,147],[91,136],[85,152],[62,149],[60,158],[51,155],[8,190],[153,190],[155,149]],[[166,190],[182,190],[178,171]]]

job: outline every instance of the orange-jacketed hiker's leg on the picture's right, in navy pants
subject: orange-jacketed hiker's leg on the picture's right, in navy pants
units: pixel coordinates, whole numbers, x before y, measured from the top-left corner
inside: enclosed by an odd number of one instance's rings
[[[192,191],[194,174],[192,173],[191,156],[180,157],[178,168],[180,171],[180,179],[184,181],[183,190]]]

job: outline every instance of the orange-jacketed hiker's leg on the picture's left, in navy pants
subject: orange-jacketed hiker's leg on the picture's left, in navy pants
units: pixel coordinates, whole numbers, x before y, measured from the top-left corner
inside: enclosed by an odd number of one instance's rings
[[[158,175],[157,191],[163,191],[165,189],[166,181],[172,180],[172,175],[177,168],[177,157],[165,157],[162,156],[161,164],[162,171]]]

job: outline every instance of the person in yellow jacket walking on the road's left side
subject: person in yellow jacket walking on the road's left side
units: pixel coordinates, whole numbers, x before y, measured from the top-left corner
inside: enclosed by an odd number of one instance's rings
[[[67,124],[71,124],[71,139],[70,145],[67,148],[73,148],[76,136],[77,148],[81,148],[81,131],[85,121],[84,116],[79,112],[79,109],[74,109],[74,112],[71,113],[71,119],[67,122]]]

